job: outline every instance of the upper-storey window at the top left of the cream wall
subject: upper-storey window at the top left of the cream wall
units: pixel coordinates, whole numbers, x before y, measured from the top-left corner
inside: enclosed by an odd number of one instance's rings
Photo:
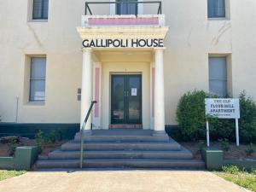
[[[33,0],[33,20],[48,19],[48,0]]]

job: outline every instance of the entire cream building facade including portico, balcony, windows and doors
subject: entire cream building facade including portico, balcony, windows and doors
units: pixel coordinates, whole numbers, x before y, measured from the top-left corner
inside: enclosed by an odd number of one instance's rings
[[[234,97],[246,90],[256,99],[255,1],[217,0],[214,6],[224,9],[213,16],[207,0],[163,0],[161,12],[160,3],[140,1],[130,4],[135,15],[116,15],[123,8],[115,1],[90,2],[92,15],[89,9],[84,15],[84,1],[49,0],[47,18],[35,19],[34,1],[0,0],[3,123],[78,125],[96,100],[86,130],[92,125],[164,131],[177,125],[177,102],[189,90]],[[96,39],[160,39],[163,45],[86,46]],[[33,62],[45,62],[44,77],[33,79]],[[213,67],[212,73],[211,62],[224,62],[224,69]],[[33,87],[36,81],[43,85]],[[114,84],[122,89],[112,89]]]

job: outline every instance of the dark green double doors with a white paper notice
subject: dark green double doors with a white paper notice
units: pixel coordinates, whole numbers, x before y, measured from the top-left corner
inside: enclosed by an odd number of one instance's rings
[[[142,75],[111,76],[111,124],[142,124]]]

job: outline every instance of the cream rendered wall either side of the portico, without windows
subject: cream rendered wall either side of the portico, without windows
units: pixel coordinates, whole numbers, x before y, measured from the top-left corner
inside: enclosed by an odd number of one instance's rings
[[[177,101],[183,93],[195,89],[208,90],[208,55],[229,55],[230,94],[238,96],[246,90],[256,100],[253,84],[256,81],[256,2],[230,1],[225,20],[207,19],[207,1],[162,2],[166,26],[170,27],[164,58],[166,125],[176,124]],[[17,119],[18,123],[79,123],[77,90],[81,86],[82,52],[76,26],[81,25],[84,1],[49,1],[47,22],[31,20],[31,14],[28,14],[31,13],[31,3],[32,0],[0,0],[0,119],[3,122],[15,122]],[[145,14],[157,12],[156,7],[149,5],[143,10]],[[108,15],[109,6],[93,6],[92,11],[95,15]],[[27,102],[30,55],[47,55],[44,104]],[[109,72],[126,67],[125,61],[117,65],[117,59],[104,60],[102,108],[108,105],[108,91],[104,89],[108,88]],[[133,64],[127,67],[135,70]],[[136,67],[147,73],[150,82],[150,61],[147,64],[142,61]],[[148,93],[146,100],[149,102],[149,83],[143,89]],[[147,120],[145,124],[148,127],[150,109],[149,106],[147,108],[143,108],[147,112],[143,114],[143,124]],[[104,118],[101,120],[105,127],[107,115]]]

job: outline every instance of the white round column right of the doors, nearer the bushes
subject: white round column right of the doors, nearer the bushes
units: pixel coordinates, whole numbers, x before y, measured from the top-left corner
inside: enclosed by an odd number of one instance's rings
[[[164,49],[154,49],[154,131],[165,131]]]

